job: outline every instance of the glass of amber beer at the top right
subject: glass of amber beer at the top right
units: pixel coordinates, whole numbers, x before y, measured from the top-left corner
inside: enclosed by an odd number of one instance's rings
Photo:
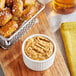
[[[53,0],[53,8],[61,14],[68,14],[76,9],[76,0]]]

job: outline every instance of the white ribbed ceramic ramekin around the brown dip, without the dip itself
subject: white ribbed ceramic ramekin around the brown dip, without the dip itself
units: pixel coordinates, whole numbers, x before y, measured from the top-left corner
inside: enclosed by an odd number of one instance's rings
[[[45,59],[45,60],[42,60],[42,61],[37,61],[37,60],[32,60],[31,58],[29,58],[25,52],[24,52],[24,46],[25,46],[25,43],[28,39],[32,38],[32,37],[35,37],[35,36],[43,36],[45,38],[48,38],[54,45],[54,53],[52,54],[52,56],[50,56],[48,59]],[[54,59],[55,59],[55,53],[56,53],[56,45],[55,45],[55,42],[48,36],[46,35],[43,35],[43,34],[34,34],[34,35],[31,35],[29,37],[27,37],[23,44],[22,44],[22,55],[23,55],[23,61],[25,63],[25,65],[31,69],[31,70],[34,70],[34,71],[43,71],[43,70],[46,70],[48,69],[50,66],[53,65],[53,62],[54,62]]]

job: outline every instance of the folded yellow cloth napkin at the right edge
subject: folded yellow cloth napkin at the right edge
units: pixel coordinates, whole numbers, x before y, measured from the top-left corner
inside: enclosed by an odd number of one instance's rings
[[[76,76],[76,22],[62,23],[61,34],[66,49],[71,75]]]

